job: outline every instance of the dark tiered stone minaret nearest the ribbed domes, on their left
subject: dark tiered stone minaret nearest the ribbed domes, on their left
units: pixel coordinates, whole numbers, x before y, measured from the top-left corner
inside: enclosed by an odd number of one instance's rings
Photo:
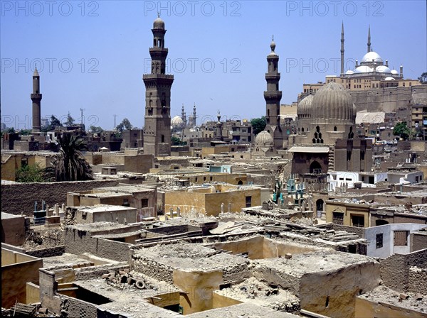
[[[280,73],[278,70],[279,55],[275,50],[274,37],[270,44],[271,53],[267,55],[268,72],[265,73],[265,80],[267,81],[267,91],[264,92],[264,99],[266,102],[267,125],[279,126],[278,120],[280,114],[280,99],[282,99],[282,92],[279,91]]]

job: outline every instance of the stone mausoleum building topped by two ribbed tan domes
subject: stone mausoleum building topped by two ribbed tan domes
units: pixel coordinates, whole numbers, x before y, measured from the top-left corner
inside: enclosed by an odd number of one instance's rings
[[[292,135],[292,173],[307,182],[327,182],[328,171],[370,171],[371,141],[354,131],[356,107],[347,89],[330,82],[298,104]]]

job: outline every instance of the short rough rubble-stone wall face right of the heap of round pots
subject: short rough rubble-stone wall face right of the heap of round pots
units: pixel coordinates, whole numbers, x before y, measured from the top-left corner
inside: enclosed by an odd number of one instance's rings
[[[145,258],[144,256],[134,256],[133,258],[133,270],[157,280],[163,280],[169,284],[174,283],[174,270],[172,267],[166,264],[157,263],[156,261],[153,261],[150,258]]]

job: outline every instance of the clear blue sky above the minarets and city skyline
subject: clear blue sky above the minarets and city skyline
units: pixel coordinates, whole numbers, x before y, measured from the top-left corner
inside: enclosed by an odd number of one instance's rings
[[[1,122],[31,128],[32,74],[41,81],[42,118],[70,113],[112,129],[144,126],[152,23],[165,22],[167,73],[174,75],[171,117],[197,107],[197,124],[265,115],[266,57],[274,35],[281,104],[302,84],[339,75],[341,23],[346,70],[372,49],[427,71],[426,1],[0,1]]]

